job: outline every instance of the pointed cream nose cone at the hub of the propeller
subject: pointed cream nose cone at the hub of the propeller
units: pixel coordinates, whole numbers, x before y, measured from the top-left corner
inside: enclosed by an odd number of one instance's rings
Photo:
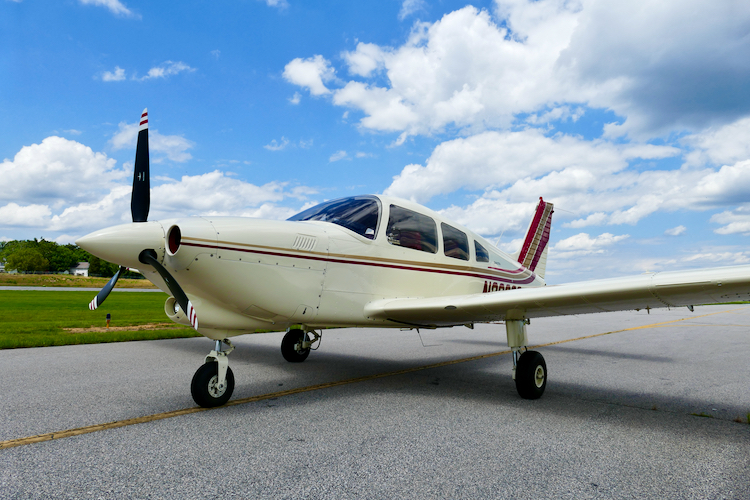
[[[140,253],[151,248],[159,259],[164,255],[164,228],[158,222],[134,222],[87,234],[76,245],[100,259],[121,266],[138,268]]]

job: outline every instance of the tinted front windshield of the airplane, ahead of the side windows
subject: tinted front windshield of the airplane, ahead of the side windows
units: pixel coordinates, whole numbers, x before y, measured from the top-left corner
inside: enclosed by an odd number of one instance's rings
[[[288,220],[333,222],[374,240],[380,222],[380,200],[374,196],[353,196],[327,201],[308,208]]]

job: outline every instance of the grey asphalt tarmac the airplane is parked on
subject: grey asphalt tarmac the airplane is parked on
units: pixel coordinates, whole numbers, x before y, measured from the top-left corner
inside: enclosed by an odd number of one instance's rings
[[[207,339],[0,351],[0,498],[750,498],[750,306],[532,320],[536,401],[509,354],[450,363],[503,325],[330,330],[302,364],[282,335],[235,339],[261,397],[179,416]]]

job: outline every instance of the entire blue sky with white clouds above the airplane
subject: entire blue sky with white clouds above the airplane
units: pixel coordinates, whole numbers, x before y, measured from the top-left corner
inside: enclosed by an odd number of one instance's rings
[[[387,193],[520,245],[548,281],[747,263],[750,5],[694,0],[0,3],[0,239],[284,219]]]

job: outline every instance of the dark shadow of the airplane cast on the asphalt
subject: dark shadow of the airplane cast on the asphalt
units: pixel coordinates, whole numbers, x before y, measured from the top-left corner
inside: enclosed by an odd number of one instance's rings
[[[183,344],[177,347],[185,352],[195,352],[198,357],[205,354],[207,342]],[[505,350],[504,343],[493,343],[498,351]],[[543,353],[558,351],[560,353],[577,353],[585,356],[605,356],[618,359],[632,359],[655,363],[672,362],[670,358],[640,354],[612,353],[591,349],[580,349],[568,346],[549,346],[539,349]],[[426,351],[429,353],[429,351]],[[236,379],[235,396],[241,399],[259,394],[257,385],[252,380],[252,367],[260,369],[278,370],[284,375],[283,388],[312,386],[330,381],[347,380],[350,378],[366,377],[382,373],[397,372],[424,365],[440,362],[429,354],[423,359],[394,360],[376,356],[363,356],[321,350],[311,353],[304,363],[288,363],[279,352],[279,347],[268,344],[242,343],[230,357]],[[676,415],[706,415],[708,410],[720,408],[713,412],[714,416],[722,420],[733,420],[744,416],[750,408],[732,402],[716,402],[697,399],[686,395],[667,394],[664,392],[647,392],[633,390],[626,387],[611,388],[591,384],[555,379],[554,366],[559,361],[552,361],[551,379],[548,381],[545,395],[537,401],[519,398],[515,383],[510,376],[511,361],[509,355],[499,355],[475,361],[412,371],[399,375],[388,375],[366,382],[347,384],[343,387],[355,387],[357,393],[362,391],[392,391],[413,396],[428,396],[447,399],[471,399],[477,403],[495,403],[510,405],[514,408],[538,408],[539,411],[558,413],[560,416],[591,418],[591,412],[617,414],[628,411],[626,409],[656,410]],[[332,369],[333,368],[333,369]],[[289,376],[293,378],[290,380]],[[639,375],[632,373],[624,384],[638,385]],[[267,382],[267,381],[266,381]],[[261,394],[263,392],[260,392]],[[290,404],[308,404],[309,399],[302,393],[297,396],[287,396],[284,399],[293,400]],[[348,391],[339,389],[315,390],[315,399],[341,398],[346,399]],[[345,404],[342,403],[342,404]],[[604,406],[603,406],[604,405]],[[718,406],[717,406],[718,405]],[[243,405],[244,406],[244,405]],[[248,405],[248,408],[252,408]],[[607,408],[608,407],[608,408]],[[252,411],[252,410],[248,410]],[[597,414],[598,414],[597,413]],[[710,413],[710,412],[709,412]],[[651,419],[649,425],[654,425]],[[672,419],[665,423],[674,427]]]

